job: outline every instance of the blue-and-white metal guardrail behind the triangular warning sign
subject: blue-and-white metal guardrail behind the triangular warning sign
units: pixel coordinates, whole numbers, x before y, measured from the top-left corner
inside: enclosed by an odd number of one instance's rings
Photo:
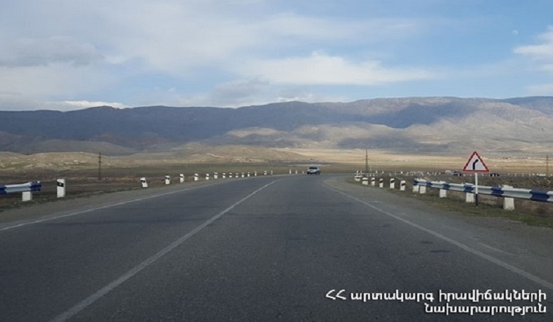
[[[476,187],[471,183],[447,183],[445,181],[427,181],[414,179],[415,186],[426,186],[428,188],[440,188],[447,191],[459,191],[464,193],[475,193]],[[541,191],[523,188],[490,187],[478,185],[478,193],[483,195],[495,195],[503,198],[517,198],[540,202],[553,202],[553,191]]]

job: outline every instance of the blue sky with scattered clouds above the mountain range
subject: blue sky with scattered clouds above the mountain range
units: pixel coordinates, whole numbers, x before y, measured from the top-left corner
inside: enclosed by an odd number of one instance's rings
[[[553,96],[551,0],[4,0],[0,110]]]

